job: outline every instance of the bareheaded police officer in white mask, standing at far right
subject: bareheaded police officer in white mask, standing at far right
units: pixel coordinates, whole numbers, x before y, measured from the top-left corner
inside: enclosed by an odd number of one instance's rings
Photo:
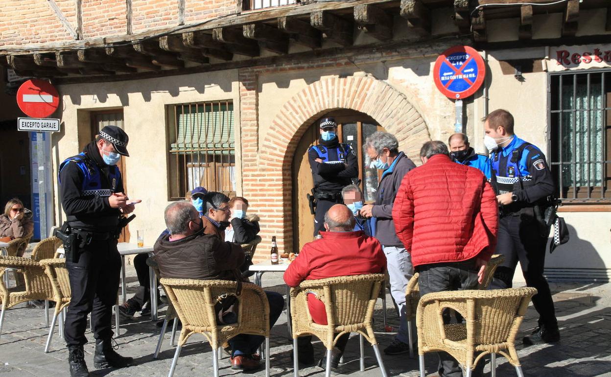
[[[524,345],[557,342],[554,301],[543,276],[550,230],[543,214],[555,193],[552,174],[541,150],[513,133],[513,116],[508,111],[492,111],[484,122],[484,144],[492,151],[492,174],[496,175],[492,185],[501,213],[497,252],[505,256],[491,288],[511,287],[519,261],[526,284],[538,292],[532,298],[539,313],[538,327],[524,337]]]

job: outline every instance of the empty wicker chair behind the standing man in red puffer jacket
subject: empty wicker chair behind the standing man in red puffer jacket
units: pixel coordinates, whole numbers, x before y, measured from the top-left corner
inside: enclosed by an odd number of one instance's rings
[[[496,370],[497,353],[507,357],[518,376],[524,377],[514,340],[530,298],[535,294],[535,288],[510,288],[445,291],[422,296],[416,315],[420,376],[425,377],[424,354],[445,351],[463,366],[466,377],[470,377],[486,354],[491,354],[492,370]],[[445,308],[461,313],[466,323],[444,324]]]

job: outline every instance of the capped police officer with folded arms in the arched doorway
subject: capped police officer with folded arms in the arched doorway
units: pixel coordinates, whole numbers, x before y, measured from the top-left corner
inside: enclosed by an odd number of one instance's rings
[[[336,203],[342,203],[342,188],[359,176],[358,159],[349,144],[337,139],[337,123],[333,118],[320,121],[318,145],[309,148],[308,161],[314,178],[316,199],[314,235],[324,231],[324,214]]]

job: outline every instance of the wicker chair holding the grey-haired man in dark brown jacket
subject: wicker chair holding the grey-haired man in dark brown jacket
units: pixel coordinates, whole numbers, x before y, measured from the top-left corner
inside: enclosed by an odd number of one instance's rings
[[[212,346],[214,377],[219,375],[218,348],[223,342],[238,334],[263,335],[265,375],[269,377],[269,302],[263,288],[244,283],[237,305],[238,322],[216,323],[214,304],[219,296],[232,295],[236,284],[228,280],[161,279],[161,285],[183,324],[169,377],[174,375],[181,348],[196,333],[203,334]]]

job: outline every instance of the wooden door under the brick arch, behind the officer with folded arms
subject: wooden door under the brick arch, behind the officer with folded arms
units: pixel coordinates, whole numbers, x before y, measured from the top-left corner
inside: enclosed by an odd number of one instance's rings
[[[337,133],[340,142],[350,144],[359,159],[360,189],[364,192],[365,202],[375,201],[379,172],[369,167],[370,161],[363,153],[363,143],[375,131],[384,131],[368,115],[350,110],[329,112],[323,117],[334,117],[338,123]],[[316,120],[305,131],[297,145],[293,157],[293,251],[299,251],[304,244],[313,240],[314,215],[310,213],[307,194],[313,188],[312,170],[307,159],[307,150],[318,144],[318,122]]]

